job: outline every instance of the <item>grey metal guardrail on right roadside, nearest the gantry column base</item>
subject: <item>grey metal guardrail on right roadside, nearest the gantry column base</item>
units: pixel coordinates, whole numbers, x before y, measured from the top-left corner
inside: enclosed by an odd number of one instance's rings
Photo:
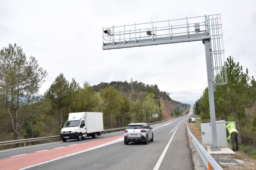
[[[187,126],[187,122],[186,122]],[[203,148],[203,146],[198,142],[195,136],[190,131],[189,127],[187,126],[187,132],[189,133],[189,137],[192,141],[192,145],[197,153],[197,158],[199,158],[200,166],[204,166],[205,169],[223,169],[221,168],[220,164],[218,164],[213,157]]]

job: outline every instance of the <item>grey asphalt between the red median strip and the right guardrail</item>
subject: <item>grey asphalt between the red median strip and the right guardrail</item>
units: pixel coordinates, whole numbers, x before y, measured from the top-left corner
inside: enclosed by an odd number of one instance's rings
[[[185,119],[187,116],[152,126],[154,142],[148,145],[135,142],[124,145],[122,140],[29,169],[194,169]]]

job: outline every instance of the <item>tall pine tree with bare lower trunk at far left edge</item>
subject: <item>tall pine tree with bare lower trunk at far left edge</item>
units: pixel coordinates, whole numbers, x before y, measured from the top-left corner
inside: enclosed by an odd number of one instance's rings
[[[47,73],[41,68],[35,57],[27,60],[22,48],[9,44],[0,51],[0,96],[1,103],[11,119],[15,139],[19,139],[20,124],[26,110],[20,108],[35,102],[38,89]]]

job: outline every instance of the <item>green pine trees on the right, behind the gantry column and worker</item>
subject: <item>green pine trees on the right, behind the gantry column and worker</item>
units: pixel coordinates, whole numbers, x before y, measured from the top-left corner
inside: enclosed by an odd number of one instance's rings
[[[245,112],[246,108],[255,105],[255,78],[254,76],[250,78],[248,70],[244,71],[239,62],[234,62],[233,57],[227,59],[225,67],[228,84],[216,86],[215,89],[216,119],[236,121],[242,143],[256,147],[256,112],[254,110],[250,116]],[[200,115],[203,121],[210,121],[207,88],[195,103],[194,113]]]

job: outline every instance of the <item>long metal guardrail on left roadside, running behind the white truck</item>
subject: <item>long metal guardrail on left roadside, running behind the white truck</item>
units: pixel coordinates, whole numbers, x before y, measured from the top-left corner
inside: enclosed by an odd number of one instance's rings
[[[163,121],[167,121],[167,120],[163,120]],[[163,121],[158,121],[155,123],[148,123],[148,124],[156,124],[156,123],[161,123]],[[106,134],[106,133],[113,132],[113,131],[122,131],[124,129],[126,129],[126,127],[104,129],[103,133]],[[58,136],[48,136],[48,137],[36,137],[36,138],[29,138],[29,139],[9,140],[9,141],[0,142],[0,146],[12,145],[12,144],[24,144],[24,147],[25,147],[27,142],[38,142],[38,141],[42,141],[42,140],[53,140],[53,139],[61,139],[61,138],[58,135]]]

